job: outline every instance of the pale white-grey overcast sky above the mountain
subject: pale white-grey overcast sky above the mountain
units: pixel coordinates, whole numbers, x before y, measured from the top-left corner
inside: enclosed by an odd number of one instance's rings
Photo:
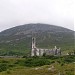
[[[28,23],[74,30],[74,0],[0,0],[0,31]]]

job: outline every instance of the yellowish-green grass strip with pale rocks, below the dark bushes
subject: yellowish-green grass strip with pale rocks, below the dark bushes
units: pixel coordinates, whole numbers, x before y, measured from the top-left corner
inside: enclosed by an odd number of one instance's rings
[[[42,67],[27,68],[16,67],[1,72],[0,75],[74,75],[74,64],[60,66],[59,64],[45,65]]]

